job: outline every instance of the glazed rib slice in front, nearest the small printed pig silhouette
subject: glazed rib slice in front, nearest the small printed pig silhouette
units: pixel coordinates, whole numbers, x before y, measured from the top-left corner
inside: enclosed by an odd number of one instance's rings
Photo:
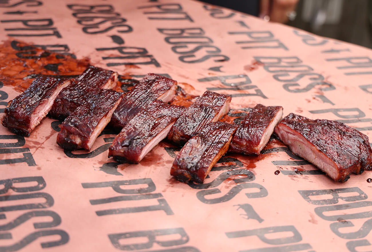
[[[170,128],[185,107],[159,100],[151,102],[133,117],[115,137],[109,157],[118,162],[139,163],[142,158],[167,137]]]

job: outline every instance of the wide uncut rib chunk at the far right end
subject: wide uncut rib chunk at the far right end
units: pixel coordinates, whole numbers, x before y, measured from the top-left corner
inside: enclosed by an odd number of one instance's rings
[[[312,120],[289,114],[275,128],[283,143],[335,181],[347,181],[350,173],[372,168],[368,137],[349,126],[330,120]]]

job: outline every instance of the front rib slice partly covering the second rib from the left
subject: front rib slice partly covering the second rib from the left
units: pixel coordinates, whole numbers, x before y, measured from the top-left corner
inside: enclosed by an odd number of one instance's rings
[[[57,144],[66,150],[89,151],[106,127],[124,93],[109,89],[93,90],[86,102],[71,113],[61,125]]]

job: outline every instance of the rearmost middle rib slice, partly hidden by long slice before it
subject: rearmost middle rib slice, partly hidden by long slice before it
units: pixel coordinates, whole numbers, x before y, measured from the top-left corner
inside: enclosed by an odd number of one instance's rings
[[[150,102],[170,102],[176,94],[177,82],[154,73],[146,74],[129,92],[112,115],[110,126],[121,130],[126,123]]]

